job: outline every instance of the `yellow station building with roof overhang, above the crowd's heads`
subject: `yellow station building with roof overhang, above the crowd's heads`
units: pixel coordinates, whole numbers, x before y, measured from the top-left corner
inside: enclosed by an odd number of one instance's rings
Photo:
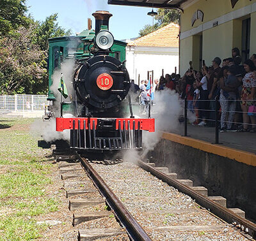
[[[180,74],[231,57],[239,48],[243,61],[256,54],[256,0],[108,0],[109,4],[180,10]]]

